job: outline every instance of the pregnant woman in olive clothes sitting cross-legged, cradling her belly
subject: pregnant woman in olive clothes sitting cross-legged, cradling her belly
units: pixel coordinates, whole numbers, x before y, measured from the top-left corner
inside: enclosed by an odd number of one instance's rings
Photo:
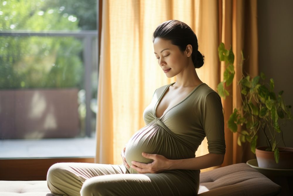
[[[200,169],[221,165],[224,118],[219,95],[197,76],[203,65],[197,38],[170,20],[153,34],[154,54],[176,82],[154,92],[144,110],[146,126],[130,138],[121,165],[57,163],[47,173],[54,195],[197,195]],[[195,157],[207,137],[209,153]]]

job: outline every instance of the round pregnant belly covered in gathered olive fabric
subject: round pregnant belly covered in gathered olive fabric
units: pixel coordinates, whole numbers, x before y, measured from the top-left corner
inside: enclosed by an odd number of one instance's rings
[[[194,152],[188,150],[172,134],[155,123],[140,129],[128,141],[125,149],[128,165],[132,165],[131,161],[153,162],[152,159],[144,158],[142,152],[163,155],[168,159],[194,157]]]

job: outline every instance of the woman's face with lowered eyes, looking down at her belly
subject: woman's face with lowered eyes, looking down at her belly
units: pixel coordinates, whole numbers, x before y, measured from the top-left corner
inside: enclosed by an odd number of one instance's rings
[[[159,66],[168,78],[178,75],[188,66],[187,52],[180,51],[179,47],[171,41],[162,38],[155,38],[154,53],[158,59]]]

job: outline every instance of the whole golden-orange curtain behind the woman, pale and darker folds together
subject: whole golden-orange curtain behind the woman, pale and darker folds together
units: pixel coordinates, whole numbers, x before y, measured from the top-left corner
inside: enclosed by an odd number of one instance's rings
[[[248,2],[103,1],[96,163],[122,164],[121,150],[145,125],[143,110],[150,103],[155,89],[176,81],[176,77],[165,76],[154,55],[152,33],[163,21],[178,19],[193,29],[198,38],[198,50],[205,56],[204,66],[197,69],[198,76],[214,90],[225,66],[218,58],[217,48],[221,42],[226,47],[233,46],[237,59],[235,65],[239,63],[240,51],[244,49],[246,54],[247,50],[250,56],[247,70],[252,75],[257,74],[256,2]],[[251,39],[256,42],[250,43]],[[235,86],[236,81],[229,87],[233,97],[222,100],[227,146],[223,165],[243,162],[246,158],[243,154],[247,152],[243,146],[235,145],[237,135],[234,136],[226,125],[233,106],[239,106]],[[196,156],[207,153],[207,141],[204,140]]]

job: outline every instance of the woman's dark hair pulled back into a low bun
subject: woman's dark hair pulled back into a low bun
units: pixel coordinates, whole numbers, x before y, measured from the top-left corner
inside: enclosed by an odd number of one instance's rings
[[[197,37],[193,30],[184,22],[178,20],[169,20],[160,24],[153,34],[153,42],[155,38],[170,40],[173,45],[176,45],[183,52],[186,46],[190,44],[193,49],[191,58],[195,68],[200,68],[203,65],[203,56],[198,51]],[[195,50],[196,49],[196,50]]]

